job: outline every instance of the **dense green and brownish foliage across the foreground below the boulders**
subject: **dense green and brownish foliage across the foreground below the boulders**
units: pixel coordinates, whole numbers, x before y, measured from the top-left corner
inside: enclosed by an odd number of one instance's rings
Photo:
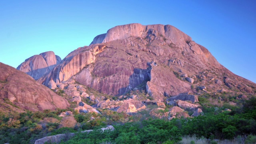
[[[176,143],[181,136],[196,135],[210,139],[233,139],[247,136],[248,143],[256,137],[256,98],[246,101],[242,108],[230,107],[232,112],[214,107],[203,107],[204,116],[187,119],[161,120],[140,116],[129,116],[111,110],[100,110],[100,114],[77,114],[74,112],[76,126],[61,127],[62,118],[58,116],[65,110],[50,112],[26,112],[21,114],[0,114],[0,143],[32,144],[44,136],[78,132],[63,144],[98,144],[114,142],[117,144],[161,144]],[[228,106],[226,106],[228,107]],[[224,106],[225,108],[225,106]],[[92,118],[93,117],[93,118]],[[112,132],[102,132],[100,128],[113,125]],[[82,130],[94,129],[85,134]]]

